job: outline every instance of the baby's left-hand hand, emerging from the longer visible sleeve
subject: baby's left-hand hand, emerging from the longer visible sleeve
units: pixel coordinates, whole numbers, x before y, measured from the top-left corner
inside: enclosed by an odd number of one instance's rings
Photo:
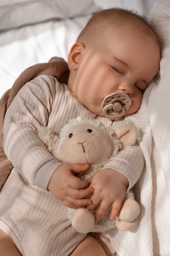
[[[90,196],[94,189],[89,187],[90,182],[74,176],[74,173],[87,171],[88,168],[88,164],[60,165],[50,179],[48,190],[70,208],[92,204]]]

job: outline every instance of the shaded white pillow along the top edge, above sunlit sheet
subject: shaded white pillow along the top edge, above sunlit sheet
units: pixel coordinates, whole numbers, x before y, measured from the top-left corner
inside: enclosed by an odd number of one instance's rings
[[[93,0],[0,0],[0,30],[98,10]]]

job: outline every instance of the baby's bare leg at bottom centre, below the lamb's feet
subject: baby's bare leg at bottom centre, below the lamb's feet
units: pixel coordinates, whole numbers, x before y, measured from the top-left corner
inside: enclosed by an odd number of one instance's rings
[[[74,251],[69,256],[106,256],[104,250],[98,241],[87,235],[74,249]]]

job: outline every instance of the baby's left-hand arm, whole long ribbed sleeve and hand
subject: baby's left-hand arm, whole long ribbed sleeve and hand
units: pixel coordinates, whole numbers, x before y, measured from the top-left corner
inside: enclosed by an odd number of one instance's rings
[[[86,198],[93,190],[89,182],[74,176],[87,166],[61,164],[37,135],[39,126],[49,123],[56,87],[52,77],[39,76],[17,93],[5,115],[4,150],[30,184],[49,189],[65,205],[76,208],[92,203]]]

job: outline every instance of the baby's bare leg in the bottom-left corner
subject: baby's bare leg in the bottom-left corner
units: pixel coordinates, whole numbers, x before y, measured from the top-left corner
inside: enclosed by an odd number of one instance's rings
[[[21,256],[13,240],[0,229],[0,256]]]

